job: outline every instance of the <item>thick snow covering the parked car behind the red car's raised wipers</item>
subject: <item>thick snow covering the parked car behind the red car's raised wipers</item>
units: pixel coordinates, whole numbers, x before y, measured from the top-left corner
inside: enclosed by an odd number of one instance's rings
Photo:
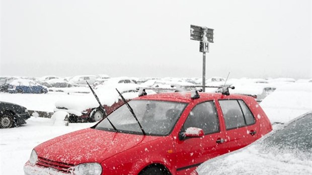
[[[136,90],[137,84],[115,84],[115,85],[105,85],[101,86],[101,88],[98,88],[95,90],[95,93],[100,99],[100,102],[102,105],[111,106],[115,102],[118,102],[119,94],[116,91],[116,88],[125,99],[133,99],[135,97],[138,97],[137,92],[133,92]],[[129,90],[132,90],[132,92],[125,93]],[[69,96],[66,99],[62,99],[55,103],[56,107],[64,107],[69,110],[76,110],[76,111],[84,111],[89,108],[96,108],[99,106],[98,101],[95,99],[94,95],[92,93],[89,93],[85,96]]]

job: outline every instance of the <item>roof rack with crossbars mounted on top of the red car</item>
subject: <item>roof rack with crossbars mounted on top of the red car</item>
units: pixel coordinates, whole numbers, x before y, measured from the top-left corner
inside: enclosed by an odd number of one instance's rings
[[[152,88],[152,87],[140,87],[136,88],[136,90],[139,91],[139,97],[141,96],[146,96],[147,93],[145,90],[158,90],[158,91],[174,91],[174,92],[185,92],[185,91],[191,91],[191,99],[199,99],[200,96],[198,92],[202,92],[202,89],[194,89],[194,88],[218,88],[216,93],[222,93],[222,95],[228,96],[229,95],[229,90],[228,89],[235,89],[234,86],[226,86],[226,85],[221,85],[221,86],[211,86],[211,85],[178,85],[178,84],[173,84],[171,85],[171,88]]]

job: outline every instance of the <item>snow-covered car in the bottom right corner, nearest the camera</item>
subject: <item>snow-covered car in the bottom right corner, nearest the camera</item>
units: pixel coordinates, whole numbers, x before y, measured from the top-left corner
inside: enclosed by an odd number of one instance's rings
[[[241,150],[210,159],[198,174],[312,174],[312,114]],[[196,174],[194,172],[193,174]]]

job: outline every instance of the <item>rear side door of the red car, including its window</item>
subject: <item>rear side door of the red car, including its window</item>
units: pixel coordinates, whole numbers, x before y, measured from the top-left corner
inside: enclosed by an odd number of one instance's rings
[[[243,100],[218,100],[225,125],[227,151],[240,149],[257,139],[258,122]]]

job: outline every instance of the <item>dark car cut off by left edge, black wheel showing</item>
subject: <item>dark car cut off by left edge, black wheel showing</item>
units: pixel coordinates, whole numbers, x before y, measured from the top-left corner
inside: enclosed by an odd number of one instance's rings
[[[0,102],[0,128],[20,126],[29,118],[27,108],[14,103]]]

